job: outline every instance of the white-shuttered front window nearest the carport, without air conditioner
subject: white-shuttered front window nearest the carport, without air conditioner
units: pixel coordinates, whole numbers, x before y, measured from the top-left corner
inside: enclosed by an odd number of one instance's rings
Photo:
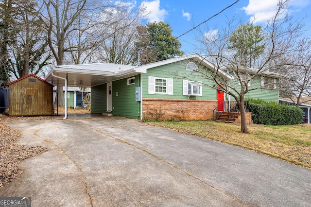
[[[148,93],[149,94],[168,94],[173,95],[173,79],[172,78],[156,78],[148,77]]]

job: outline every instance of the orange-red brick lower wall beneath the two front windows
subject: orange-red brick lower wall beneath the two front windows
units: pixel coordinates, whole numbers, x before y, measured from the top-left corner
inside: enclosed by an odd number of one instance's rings
[[[142,118],[152,120],[210,120],[216,100],[142,99]]]

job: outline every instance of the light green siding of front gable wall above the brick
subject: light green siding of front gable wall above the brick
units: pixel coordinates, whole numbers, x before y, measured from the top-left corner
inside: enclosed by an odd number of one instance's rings
[[[209,86],[214,86],[214,82],[204,79],[203,77],[194,76],[190,70],[186,70],[186,66],[190,61],[181,61],[168,65],[147,69],[147,73],[142,75],[142,88],[143,98],[165,98],[165,99],[188,99],[188,96],[183,95],[183,79],[182,77],[189,77],[185,80],[193,80],[202,82],[202,96],[190,96],[189,99],[201,100],[216,100],[217,91]],[[200,69],[203,69],[202,67]],[[205,69],[208,74],[210,71]],[[174,73],[178,73],[179,77],[174,77]],[[153,76],[156,78],[173,78],[173,95],[168,94],[149,94],[148,93],[148,77]],[[191,78],[190,78],[191,77]]]

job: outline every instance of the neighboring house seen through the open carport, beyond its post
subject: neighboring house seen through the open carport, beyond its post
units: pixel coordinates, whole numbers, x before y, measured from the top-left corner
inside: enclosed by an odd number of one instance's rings
[[[65,87],[63,87],[63,104],[65,103]],[[90,93],[90,88],[84,88],[81,90],[79,87],[72,87],[68,86],[67,88],[67,107],[68,108],[76,108],[76,107],[83,107],[83,99],[85,98],[86,94]],[[53,100],[57,102],[56,97],[56,87],[53,88]]]

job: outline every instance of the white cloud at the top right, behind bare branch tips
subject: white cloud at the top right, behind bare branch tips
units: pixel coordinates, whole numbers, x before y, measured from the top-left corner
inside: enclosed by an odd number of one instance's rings
[[[276,14],[278,0],[249,0],[242,10],[250,17],[250,21],[265,22]],[[310,0],[291,0],[289,9],[291,12],[298,12],[310,4]]]

